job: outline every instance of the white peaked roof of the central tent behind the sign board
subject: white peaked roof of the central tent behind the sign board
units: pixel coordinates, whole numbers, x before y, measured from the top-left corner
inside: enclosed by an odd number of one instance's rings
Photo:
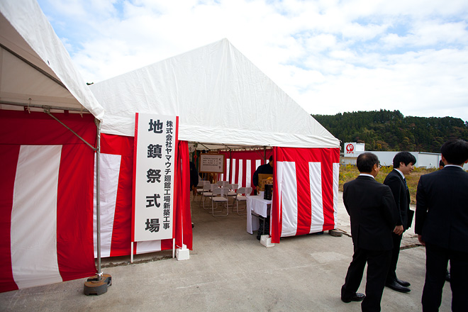
[[[134,135],[135,112],[179,116],[179,139],[225,145],[339,147],[339,140],[227,39],[90,86],[102,132]]]

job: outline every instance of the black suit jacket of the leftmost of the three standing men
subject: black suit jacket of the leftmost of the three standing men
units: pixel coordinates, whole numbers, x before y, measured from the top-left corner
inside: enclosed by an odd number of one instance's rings
[[[389,186],[359,176],[343,186],[343,202],[350,215],[352,243],[367,250],[391,250],[397,211]]]

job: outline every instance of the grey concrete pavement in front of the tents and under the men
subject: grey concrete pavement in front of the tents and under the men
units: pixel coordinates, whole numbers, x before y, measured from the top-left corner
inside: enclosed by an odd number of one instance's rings
[[[340,194],[337,225],[350,233]],[[194,204],[194,203],[192,203]],[[194,250],[190,260],[172,252],[103,260],[113,284],[106,294],[84,296],[86,279],[0,294],[0,311],[360,311],[340,301],[352,257],[350,236],[303,235],[266,248],[245,230],[245,216],[213,218],[194,205]],[[425,250],[413,229],[404,233],[397,274],[411,292],[386,288],[382,311],[421,311]],[[364,293],[365,273],[360,292]],[[450,311],[445,284],[440,311]]]

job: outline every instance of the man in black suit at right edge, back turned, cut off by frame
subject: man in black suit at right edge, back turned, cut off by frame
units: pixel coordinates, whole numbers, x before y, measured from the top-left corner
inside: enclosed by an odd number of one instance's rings
[[[445,167],[420,177],[416,193],[418,240],[425,245],[423,311],[438,311],[450,260],[452,311],[468,311],[468,143],[440,148]]]

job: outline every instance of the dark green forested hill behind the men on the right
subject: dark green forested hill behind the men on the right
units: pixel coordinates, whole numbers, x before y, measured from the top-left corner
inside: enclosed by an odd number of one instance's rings
[[[460,118],[405,117],[386,110],[311,116],[341,140],[341,147],[357,142],[365,143],[365,150],[440,152],[446,140],[468,140],[468,122]]]

